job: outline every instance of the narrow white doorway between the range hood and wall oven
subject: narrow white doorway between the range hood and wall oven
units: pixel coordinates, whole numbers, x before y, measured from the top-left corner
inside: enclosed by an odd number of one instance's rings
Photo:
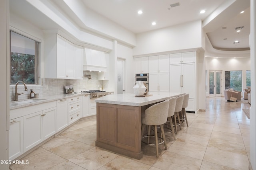
[[[124,90],[124,67],[125,61],[123,59],[117,59],[117,94],[123,94]]]

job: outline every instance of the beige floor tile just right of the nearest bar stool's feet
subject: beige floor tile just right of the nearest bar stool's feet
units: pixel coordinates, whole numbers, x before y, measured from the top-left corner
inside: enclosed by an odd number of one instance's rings
[[[203,160],[206,147],[175,141],[167,151]]]

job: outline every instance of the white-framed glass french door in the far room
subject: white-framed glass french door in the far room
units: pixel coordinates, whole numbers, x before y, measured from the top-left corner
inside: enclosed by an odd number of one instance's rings
[[[209,97],[222,96],[222,71],[210,70],[209,71]]]

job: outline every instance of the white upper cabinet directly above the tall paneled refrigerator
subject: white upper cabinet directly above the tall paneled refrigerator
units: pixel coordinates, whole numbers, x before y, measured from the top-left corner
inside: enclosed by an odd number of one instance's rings
[[[170,54],[170,64],[195,63],[195,51]]]

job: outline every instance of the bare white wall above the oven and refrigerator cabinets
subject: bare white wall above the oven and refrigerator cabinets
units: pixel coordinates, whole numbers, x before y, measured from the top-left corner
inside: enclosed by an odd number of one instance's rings
[[[136,35],[136,44],[133,50],[134,56],[201,48],[201,20],[139,33]]]

